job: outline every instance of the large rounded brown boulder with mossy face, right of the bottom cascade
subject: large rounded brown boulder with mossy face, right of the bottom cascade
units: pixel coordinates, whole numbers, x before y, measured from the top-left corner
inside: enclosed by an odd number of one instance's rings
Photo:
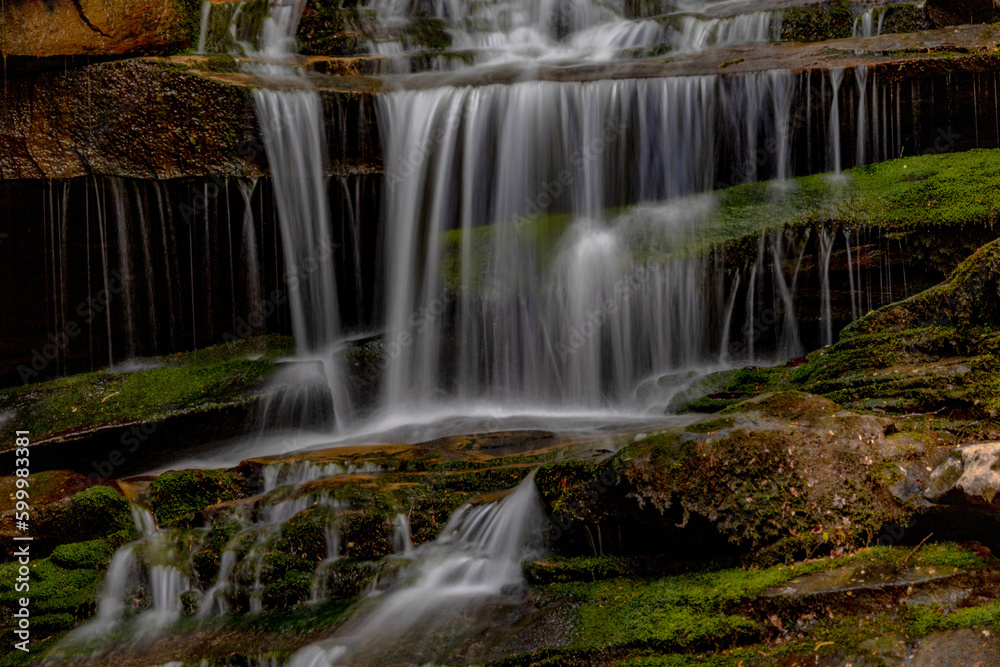
[[[649,436],[600,463],[542,466],[536,481],[556,548],[768,563],[873,544],[914,511],[886,471],[931,452],[886,445],[891,420],[798,392],[726,413],[711,428]]]

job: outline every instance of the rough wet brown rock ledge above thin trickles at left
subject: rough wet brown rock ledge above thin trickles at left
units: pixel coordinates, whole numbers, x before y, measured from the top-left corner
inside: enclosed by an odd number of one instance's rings
[[[7,82],[0,178],[92,173],[253,177],[262,151],[249,91],[155,60],[46,71]]]

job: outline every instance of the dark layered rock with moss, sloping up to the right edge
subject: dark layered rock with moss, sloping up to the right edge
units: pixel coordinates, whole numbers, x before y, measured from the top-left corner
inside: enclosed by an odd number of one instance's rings
[[[1000,241],[941,285],[880,308],[812,353],[793,384],[851,406],[897,412],[1000,413]]]

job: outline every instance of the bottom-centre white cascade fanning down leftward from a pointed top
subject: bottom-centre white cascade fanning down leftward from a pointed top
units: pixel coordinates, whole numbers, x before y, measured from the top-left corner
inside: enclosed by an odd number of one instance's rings
[[[434,542],[413,550],[404,583],[375,596],[334,637],[299,650],[289,667],[388,664],[364,656],[433,636],[435,627],[454,632],[454,614],[522,584],[521,563],[535,553],[544,516],[532,476],[500,502],[460,508]]]

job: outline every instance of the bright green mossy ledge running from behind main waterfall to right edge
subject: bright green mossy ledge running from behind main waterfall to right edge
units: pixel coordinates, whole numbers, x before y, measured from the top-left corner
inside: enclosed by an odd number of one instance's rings
[[[841,177],[816,174],[788,182],[762,182],[692,195],[663,203],[608,209],[604,226],[614,229],[636,264],[703,256],[719,247],[727,256],[756,257],[763,232],[827,227],[877,228],[893,238],[913,240],[914,248],[935,252],[945,270],[959,259],[963,230],[991,228],[1000,214],[1000,150],[920,155],[857,167]],[[472,266],[466,267],[474,293],[485,289],[494,249],[523,247],[521,256],[540,275],[555,264],[574,220],[546,213],[472,231]],[[948,243],[936,239],[947,232]],[[928,240],[934,239],[934,240]],[[449,294],[462,285],[462,230],[444,235],[441,276]],[[970,241],[971,243],[971,241]],[[933,246],[944,246],[935,250]],[[966,253],[968,254],[968,253]],[[528,261],[526,259],[526,261]]]

